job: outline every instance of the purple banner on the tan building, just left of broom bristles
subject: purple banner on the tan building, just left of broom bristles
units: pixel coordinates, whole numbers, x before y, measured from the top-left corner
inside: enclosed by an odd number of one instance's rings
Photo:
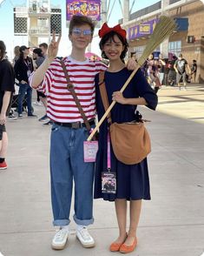
[[[137,37],[145,37],[151,35],[155,30],[155,25],[158,23],[159,19],[152,19],[150,21],[144,22],[142,24],[135,25],[128,29],[128,39],[135,39]]]

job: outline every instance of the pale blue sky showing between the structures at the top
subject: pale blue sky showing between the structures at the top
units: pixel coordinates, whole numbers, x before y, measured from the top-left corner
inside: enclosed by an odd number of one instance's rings
[[[24,0],[6,0],[3,2],[0,7],[0,40],[3,40],[6,44],[8,56],[13,56],[13,48],[16,45],[28,45],[28,38],[25,36],[14,36],[14,28],[13,28],[13,8],[19,5],[25,5],[27,1]],[[112,1],[111,1],[112,2]],[[112,16],[109,19],[109,25],[113,26],[117,24],[118,20],[122,18],[122,10],[120,7],[119,1],[116,1],[114,11],[112,12]],[[122,1],[121,1],[122,2]],[[148,5],[153,3],[157,3],[159,0],[136,0],[134,8],[132,12],[136,10],[141,10]],[[1,1],[0,1],[1,3]],[[71,45],[69,44],[68,39],[68,29],[66,28],[66,1],[58,1],[58,0],[50,0],[50,3],[53,5],[58,5],[62,9],[63,14],[63,35],[60,44],[59,56],[66,56],[70,53]],[[131,7],[133,0],[129,1],[129,6]],[[97,31],[97,30],[96,30]],[[93,40],[93,44],[91,46],[91,51],[94,51],[96,54],[100,54],[98,48],[98,38]]]

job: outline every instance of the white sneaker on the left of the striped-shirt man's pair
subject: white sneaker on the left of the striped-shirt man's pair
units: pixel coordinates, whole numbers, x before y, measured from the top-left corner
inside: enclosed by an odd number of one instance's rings
[[[67,229],[60,229],[52,239],[52,248],[56,250],[63,250],[68,240],[69,231]]]

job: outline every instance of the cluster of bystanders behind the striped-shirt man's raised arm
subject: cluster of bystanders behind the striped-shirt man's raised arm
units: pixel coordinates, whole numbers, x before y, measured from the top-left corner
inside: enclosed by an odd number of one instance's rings
[[[23,118],[23,111],[28,113],[29,118],[37,118],[34,114],[34,108],[32,106],[32,88],[29,84],[29,77],[33,71],[43,63],[48,51],[48,44],[39,44],[38,48],[33,50],[30,55],[30,48],[22,45],[16,45],[14,48],[14,58],[12,65],[15,71],[15,92],[12,95],[10,101],[10,113],[9,119],[16,120],[17,118]],[[47,117],[47,99],[43,91],[36,91],[36,105],[43,105],[44,115],[39,118],[39,121],[43,122],[43,125],[52,125],[52,121]],[[14,110],[17,112],[17,117],[14,114]]]

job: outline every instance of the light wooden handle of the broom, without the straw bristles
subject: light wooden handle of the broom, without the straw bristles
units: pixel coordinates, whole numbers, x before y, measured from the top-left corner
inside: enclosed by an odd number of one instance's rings
[[[128,86],[129,82],[131,81],[131,79],[135,76],[136,71],[138,71],[140,68],[140,64],[138,64],[138,66],[136,67],[136,69],[131,73],[131,75],[128,77],[128,80],[125,82],[125,84],[122,85],[122,89],[120,90],[121,92],[123,92],[125,90],[125,88]],[[112,110],[113,106],[115,105],[116,101],[112,101],[112,103],[109,105],[108,110],[103,114],[102,118],[100,119],[100,121],[98,122],[98,124],[95,126],[95,129],[91,132],[91,134],[89,135],[89,138],[87,139],[87,141],[90,141],[94,135],[95,132],[98,130],[98,128],[102,125],[102,122],[104,121],[104,119],[109,115],[109,112]]]

